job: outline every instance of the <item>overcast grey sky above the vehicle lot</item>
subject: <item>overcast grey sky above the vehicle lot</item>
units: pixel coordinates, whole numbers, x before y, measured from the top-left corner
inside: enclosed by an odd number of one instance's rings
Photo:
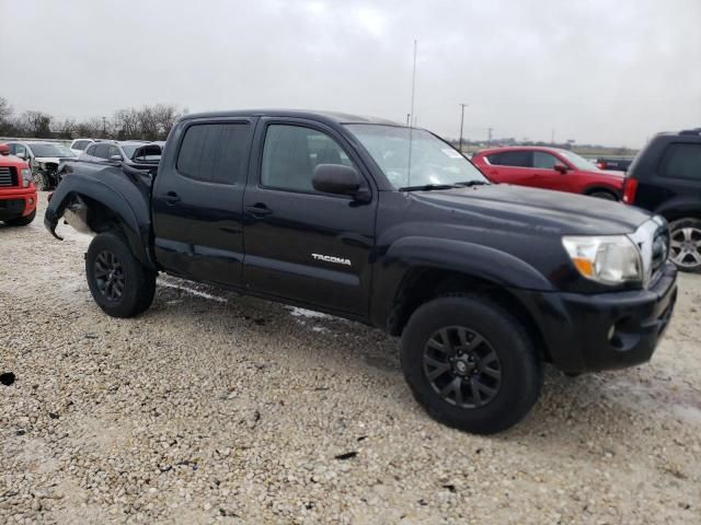
[[[701,0],[0,0],[15,110],[334,109],[640,147],[701,126]]]

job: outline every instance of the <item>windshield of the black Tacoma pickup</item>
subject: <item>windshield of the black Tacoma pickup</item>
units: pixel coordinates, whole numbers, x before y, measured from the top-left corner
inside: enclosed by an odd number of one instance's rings
[[[426,130],[377,124],[346,127],[372,155],[394,189],[489,184],[458,150]]]

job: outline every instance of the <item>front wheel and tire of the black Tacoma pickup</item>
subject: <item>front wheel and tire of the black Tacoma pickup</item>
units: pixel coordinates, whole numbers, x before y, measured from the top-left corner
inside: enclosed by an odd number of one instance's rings
[[[460,348],[466,351],[458,357]],[[472,363],[466,361],[470,357]],[[479,295],[444,296],[420,306],[402,335],[401,361],[414,398],[432,418],[475,434],[501,432],[524,419],[543,382],[542,360],[524,326]],[[441,388],[449,389],[446,397]]]

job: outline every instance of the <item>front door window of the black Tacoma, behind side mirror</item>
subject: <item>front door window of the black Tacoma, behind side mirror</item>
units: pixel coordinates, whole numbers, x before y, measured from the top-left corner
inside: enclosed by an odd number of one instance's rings
[[[301,126],[268,126],[261,166],[263,186],[315,194],[312,178],[319,164],[353,166],[341,145],[322,131]]]

